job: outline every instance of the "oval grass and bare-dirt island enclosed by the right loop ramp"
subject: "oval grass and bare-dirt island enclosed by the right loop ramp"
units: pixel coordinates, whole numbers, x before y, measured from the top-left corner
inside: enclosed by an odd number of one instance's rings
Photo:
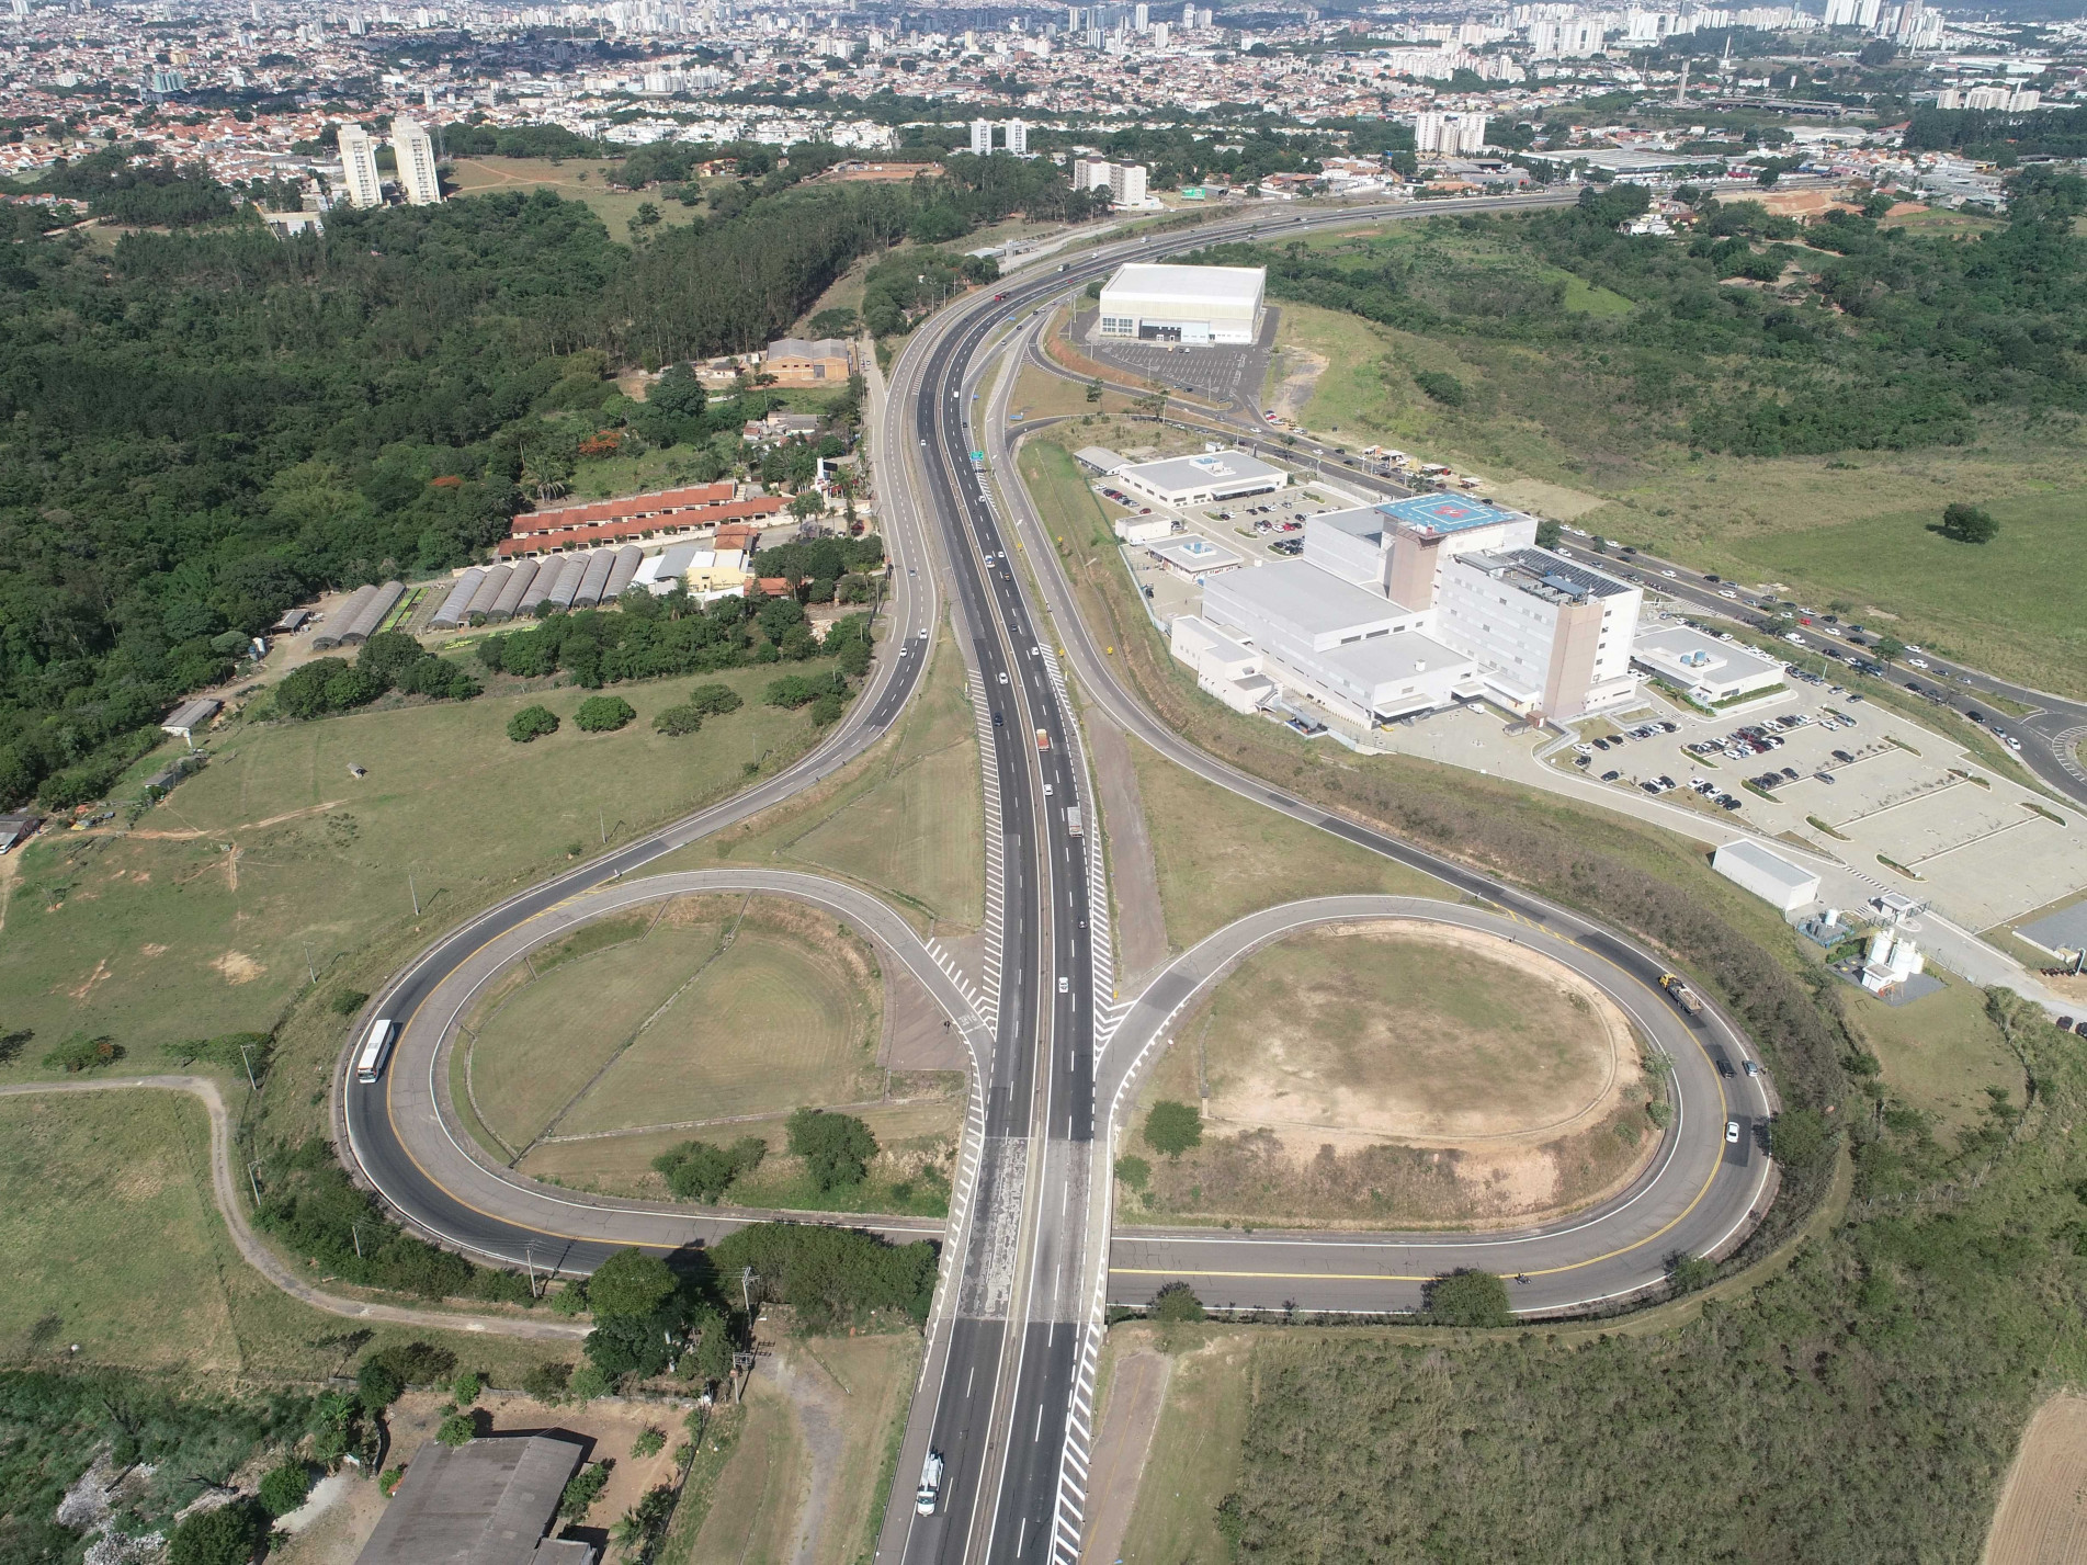
[[[1179,1025],[1142,1104],[1160,1098],[1200,1104],[1204,1143],[1148,1158],[1127,1221],[1532,1221],[1622,1189],[1659,1143],[1638,1039],[1599,987],[1419,920],[1242,962]]]

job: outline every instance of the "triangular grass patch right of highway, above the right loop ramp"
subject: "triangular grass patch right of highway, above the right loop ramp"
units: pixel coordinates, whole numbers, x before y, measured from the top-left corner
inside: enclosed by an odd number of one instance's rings
[[[1188,949],[1233,918],[1302,897],[1446,897],[1434,876],[1204,782],[1131,741],[1167,939]]]

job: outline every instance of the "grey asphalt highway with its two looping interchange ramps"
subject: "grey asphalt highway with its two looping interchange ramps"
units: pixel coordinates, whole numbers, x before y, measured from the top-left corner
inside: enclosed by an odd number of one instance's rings
[[[530,887],[422,952],[357,1025],[359,1033],[374,1016],[403,1022],[382,1087],[355,1083],[346,1073],[351,1048],[342,1050],[336,1114],[353,1166],[419,1231],[503,1265],[586,1271],[620,1244],[678,1248],[716,1237],[733,1221],[758,1219],[584,1198],[513,1177],[453,1125],[445,1102],[445,1050],[472,993],[493,972],[559,929],[618,906],[689,891],[766,891],[847,916],[927,985],[952,1025],[964,1029],[977,1062],[922,1381],[879,1546],[879,1559],[906,1561],[1077,1557],[1104,1292],[1148,1298],[1167,1277],[1183,1275],[1194,1277],[1210,1302],[1296,1300],[1304,1308],[1375,1313],[1409,1308],[1419,1279],[1448,1269],[1438,1262],[1465,1250],[1503,1258],[1503,1267],[1511,1260],[1517,1273],[1528,1273],[1530,1281],[1517,1283],[1517,1304],[1540,1313],[1657,1281],[1661,1246],[1711,1248],[1741,1231],[1768,1189],[1768,1160],[1751,1135],[1772,1100],[1759,1079],[1716,1073],[1718,1054],[1728,1062],[1747,1054],[1728,1018],[1711,1008],[1701,1029],[1684,1027],[1647,989],[1659,964],[1630,941],[1436,853],[1329,816],[1165,730],[1117,682],[1110,659],[1079,622],[1056,553],[1021,492],[1004,417],[1012,376],[991,409],[981,399],[981,374],[995,355],[1023,351],[1025,336],[1041,321],[1039,311],[1125,259],[1236,238],[1248,227],[1267,236],[1371,217],[1434,217],[1555,200],[1428,202],[1423,209],[1313,211],[1296,221],[1217,221],[1075,252],[1062,269],[1021,273],[1000,298],[975,294],[925,323],[893,367],[881,419],[879,486],[893,595],[864,693],[835,732],[795,766],[745,795]],[[983,469],[973,463],[975,451],[985,455]],[[939,582],[950,588],[947,603]],[[983,764],[998,793],[1000,841],[989,858],[1000,868],[1000,895],[998,906],[989,906],[987,929],[998,972],[989,1016],[970,1012],[970,1002],[904,920],[849,887],[768,870],[634,878],[662,853],[791,797],[877,743],[914,693],[943,609],[991,712]],[[1323,922],[1327,910],[1304,906],[1242,920],[1213,937],[1240,941],[1238,949],[1206,941],[1167,968],[1129,1010],[1114,1004],[1108,899],[1100,866],[1089,858],[1100,839],[1092,830],[1087,768],[1079,730],[1069,720],[1066,678],[1173,764],[1421,868],[1444,881],[1450,895],[1473,904],[1461,916],[1513,924],[1519,939],[1544,943],[1590,977],[1603,974],[1597,981],[1640,1014],[1647,1035],[1674,1054],[1686,1133],[1676,1127],[1645,1179],[1615,1202],[1540,1233],[1484,1235],[1482,1250],[1440,1235],[1219,1239],[1140,1233],[1110,1242],[1110,1137],[1135,1089],[1137,1068],[1154,1054],[1148,1045],[1165,1037],[1167,1020],[1227,960],[1288,929]],[[1066,814],[1075,808],[1089,830],[1075,833]],[[1357,916],[1357,908],[1336,916]],[[1741,1118],[1745,1129],[1734,1150],[1726,1150],[1722,1137],[1726,1116]],[[941,1225],[887,1221],[877,1227],[912,1237]],[[939,1450],[947,1467],[939,1504],[933,1515],[918,1517],[912,1486],[929,1448]]]

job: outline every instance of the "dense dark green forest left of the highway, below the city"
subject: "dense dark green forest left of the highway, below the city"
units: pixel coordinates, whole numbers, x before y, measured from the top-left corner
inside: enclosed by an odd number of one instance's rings
[[[52,177],[184,198],[190,175],[161,173]],[[336,209],[288,242],[232,219],[127,234],[113,257],[25,225],[0,250],[0,805],[121,766],[315,591],[472,559],[524,486],[570,472],[576,428],[547,415],[672,444],[760,411],[647,417],[614,367],[762,346],[858,257],[1064,211],[1052,179],[966,156],[897,186],[751,182],[637,250],[551,192]],[[925,303],[902,292],[879,326]]]

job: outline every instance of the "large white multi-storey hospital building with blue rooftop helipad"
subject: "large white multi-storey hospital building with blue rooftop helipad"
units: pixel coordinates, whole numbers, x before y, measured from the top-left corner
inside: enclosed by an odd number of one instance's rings
[[[1482,697],[1526,718],[1634,699],[1640,591],[1534,543],[1536,517],[1450,495],[1329,511],[1300,559],[1208,578],[1200,618],[1363,726]]]

